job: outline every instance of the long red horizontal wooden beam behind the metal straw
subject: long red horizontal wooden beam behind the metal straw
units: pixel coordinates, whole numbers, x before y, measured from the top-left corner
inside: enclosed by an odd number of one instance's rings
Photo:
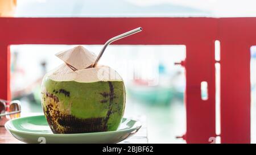
[[[185,44],[191,40],[212,39],[210,36],[216,35],[212,31],[214,21],[213,18],[1,18],[0,30],[5,30],[1,35],[5,37],[0,41],[104,44],[109,37],[142,26],[143,33],[115,44]]]

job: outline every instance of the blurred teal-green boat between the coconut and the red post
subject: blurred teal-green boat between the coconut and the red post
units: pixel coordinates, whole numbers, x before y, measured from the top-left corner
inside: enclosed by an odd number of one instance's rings
[[[148,104],[171,104],[172,99],[183,100],[184,81],[180,82],[181,74],[175,73],[174,76],[165,74],[162,66],[159,66],[159,79],[157,85],[151,86],[151,81],[134,79],[127,85],[127,95]],[[176,80],[178,79],[178,81]]]

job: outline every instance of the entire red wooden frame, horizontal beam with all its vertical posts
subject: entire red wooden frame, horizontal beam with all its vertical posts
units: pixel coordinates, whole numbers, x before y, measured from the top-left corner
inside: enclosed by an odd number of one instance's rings
[[[14,44],[186,45],[187,143],[210,143],[215,132],[214,41],[221,43],[221,143],[250,143],[250,52],[256,18],[0,18],[0,98],[10,99],[10,50]],[[28,60],[29,61],[29,60]],[[208,100],[200,83],[208,82]]]

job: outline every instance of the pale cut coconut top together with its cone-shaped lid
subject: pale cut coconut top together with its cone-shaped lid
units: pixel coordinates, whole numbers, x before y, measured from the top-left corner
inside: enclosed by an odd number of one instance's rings
[[[96,55],[82,46],[56,54],[65,63],[46,74],[53,81],[122,81],[122,77],[109,66],[97,65],[92,68]]]

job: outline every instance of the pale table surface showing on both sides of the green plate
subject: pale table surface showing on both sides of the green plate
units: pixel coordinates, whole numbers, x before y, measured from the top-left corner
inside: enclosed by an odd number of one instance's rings
[[[138,118],[138,117],[137,117]],[[126,140],[120,142],[120,144],[144,144],[148,143],[147,139],[147,127],[146,127],[146,120],[142,117],[139,119],[142,122],[142,127],[139,129],[135,135],[129,137]],[[10,144],[22,144],[22,141],[19,141],[11,135],[8,131],[6,131],[5,127],[0,126],[0,144],[3,143],[10,143]]]

